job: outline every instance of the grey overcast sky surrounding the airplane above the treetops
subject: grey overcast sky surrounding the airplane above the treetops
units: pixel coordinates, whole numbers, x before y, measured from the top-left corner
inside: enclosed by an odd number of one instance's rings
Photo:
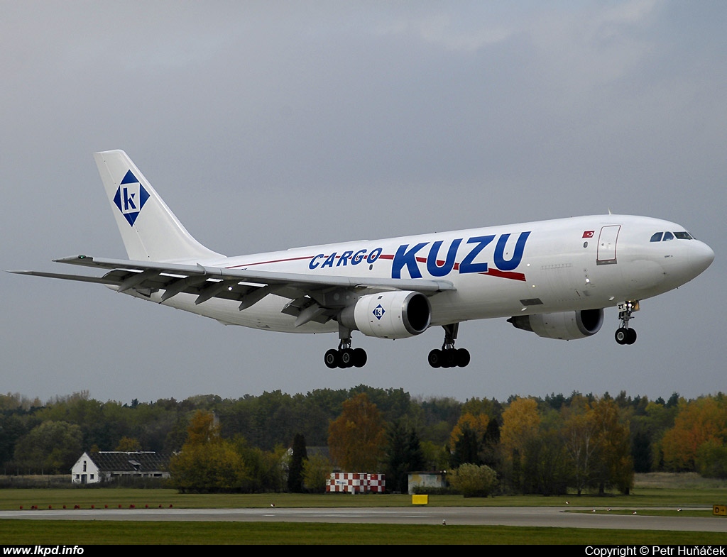
[[[131,402],[364,383],[413,396],[650,399],[726,390],[727,3],[723,1],[0,1],[4,269],[124,259],[92,153],[123,149],[209,248],[640,214],[715,262],[598,335],[552,341],[467,322],[466,368],[434,370],[441,328],[286,335],[0,273],[0,392]],[[73,272],[73,269],[70,269]]]

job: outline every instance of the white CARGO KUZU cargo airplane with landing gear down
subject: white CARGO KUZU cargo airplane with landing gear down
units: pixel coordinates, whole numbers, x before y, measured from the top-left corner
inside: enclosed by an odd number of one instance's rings
[[[366,364],[353,331],[398,339],[440,326],[444,341],[429,364],[465,367],[470,352],[455,348],[462,322],[507,318],[574,340],[598,333],[614,306],[616,342],[629,345],[640,301],[694,279],[715,257],[679,224],[610,211],[227,257],[190,235],[124,151],[94,158],[129,259],[55,260],[103,275],[10,272],[103,284],[225,325],[338,333],[324,355],[330,368]]]

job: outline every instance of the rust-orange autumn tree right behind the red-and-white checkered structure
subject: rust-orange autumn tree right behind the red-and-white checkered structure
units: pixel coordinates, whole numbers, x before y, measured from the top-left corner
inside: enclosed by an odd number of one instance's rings
[[[341,415],[329,426],[329,450],[343,470],[375,471],[385,442],[384,421],[366,393],[345,401]]]

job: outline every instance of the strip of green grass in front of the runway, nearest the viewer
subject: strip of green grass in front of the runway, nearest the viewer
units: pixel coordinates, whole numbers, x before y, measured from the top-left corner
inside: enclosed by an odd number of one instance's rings
[[[3,544],[296,545],[714,545],[727,532],[651,532],[514,526],[298,524],[283,522],[0,521]]]

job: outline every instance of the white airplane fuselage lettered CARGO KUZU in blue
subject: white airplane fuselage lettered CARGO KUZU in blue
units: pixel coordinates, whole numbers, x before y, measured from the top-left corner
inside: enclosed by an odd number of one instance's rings
[[[447,325],[616,306],[677,288],[712,262],[714,253],[699,240],[650,241],[658,232],[673,235],[684,229],[642,216],[582,216],[186,262],[309,275],[446,280],[455,289],[436,293],[430,304],[431,325]],[[161,293],[150,299],[160,301]],[[220,298],[196,305],[195,296],[180,294],[164,301],[230,325],[297,333],[338,329],[334,320],[295,327],[294,317],[281,312],[288,303],[289,298],[270,295],[240,311],[238,303]]]

